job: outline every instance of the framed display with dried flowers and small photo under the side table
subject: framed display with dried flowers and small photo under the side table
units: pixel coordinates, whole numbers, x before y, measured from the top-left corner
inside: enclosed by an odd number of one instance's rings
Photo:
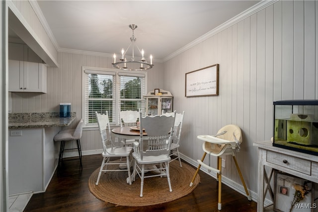
[[[314,183],[293,175],[275,170],[274,180],[275,212],[313,212],[314,211]],[[305,194],[296,204],[295,194]],[[300,195],[301,197],[302,195]],[[294,203],[294,204],[293,204]]]

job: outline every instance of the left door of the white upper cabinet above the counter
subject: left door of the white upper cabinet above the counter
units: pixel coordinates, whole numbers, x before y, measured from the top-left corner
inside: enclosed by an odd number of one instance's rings
[[[23,61],[9,60],[8,91],[23,91]]]

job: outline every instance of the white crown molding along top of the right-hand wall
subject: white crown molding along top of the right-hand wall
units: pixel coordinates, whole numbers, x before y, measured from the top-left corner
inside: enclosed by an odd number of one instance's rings
[[[229,19],[228,21],[224,22],[223,24],[219,25],[218,27],[214,28],[210,32],[202,35],[201,37],[195,39],[194,41],[188,43],[187,45],[183,46],[182,48],[178,49],[174,53],[168,55],[167,57],[163,58],[163,62],[166,62],[175,56],[181,54],[182,52],[202,43],[203,41],[207,40],[208,38],[218,34],[219,32],[225,30],[226,28],[238,23],[239,21],[251,16],[252,14],[264,9],[265,7],[275,3],[278,0],[262,0],[259,3],[255,4],[254,6],[246,9],[245,11],[239,13],[237,16]]]

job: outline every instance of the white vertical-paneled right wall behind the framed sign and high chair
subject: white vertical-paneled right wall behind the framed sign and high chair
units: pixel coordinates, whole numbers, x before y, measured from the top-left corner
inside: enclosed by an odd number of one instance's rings
[[[164,88],[175,96],[174,109],[186,112],[180,151],[200,159],[198,135],[237,124],[243,133],[237,159],[247,187],[256,192],[252,143],[272,137],[273,101],[318,98],[317,31],[317,1],[277,1],[166,61]],[[185,73],[214,64],[220,64],[219,96],[184,97]],[[231,156],[225,159],[223,175],[241,184]]]

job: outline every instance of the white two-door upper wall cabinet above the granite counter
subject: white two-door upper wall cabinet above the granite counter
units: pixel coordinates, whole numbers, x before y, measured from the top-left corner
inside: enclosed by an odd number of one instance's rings
[[[9,92],[47,92],[45,64],[9,60]]]

